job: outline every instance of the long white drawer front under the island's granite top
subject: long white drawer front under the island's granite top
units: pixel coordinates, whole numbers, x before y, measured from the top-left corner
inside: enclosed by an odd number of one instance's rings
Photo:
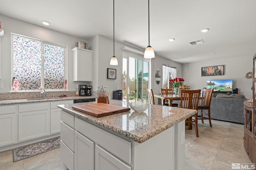
[[[131,163],[132,143],[75,117],[75,129],[118,158]]]

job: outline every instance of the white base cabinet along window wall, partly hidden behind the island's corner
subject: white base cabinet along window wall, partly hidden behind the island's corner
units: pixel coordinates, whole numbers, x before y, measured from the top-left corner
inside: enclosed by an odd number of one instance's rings
[[[60,133],[60,111],[58,108],[60,104],[72,104],[73,100],[51,102],[50,112],[50,134]]]

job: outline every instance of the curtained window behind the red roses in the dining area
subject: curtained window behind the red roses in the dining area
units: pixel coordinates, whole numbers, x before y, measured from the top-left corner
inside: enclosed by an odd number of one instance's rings
[[[172,88],[169,84],[169,79],[176,78],[176,68],[163,64],[163,88]]]

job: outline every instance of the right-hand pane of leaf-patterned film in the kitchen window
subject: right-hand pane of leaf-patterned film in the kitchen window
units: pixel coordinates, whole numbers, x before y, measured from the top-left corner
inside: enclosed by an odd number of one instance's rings
[[[64,89],[64,48],[44,44],[44,89]]]

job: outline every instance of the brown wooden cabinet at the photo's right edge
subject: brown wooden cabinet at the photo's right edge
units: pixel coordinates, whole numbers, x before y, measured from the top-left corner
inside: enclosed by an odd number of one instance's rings
[[[253,57],[252,103],[244,102],[244,149],[252,163],[256,163],[256,54]]]

